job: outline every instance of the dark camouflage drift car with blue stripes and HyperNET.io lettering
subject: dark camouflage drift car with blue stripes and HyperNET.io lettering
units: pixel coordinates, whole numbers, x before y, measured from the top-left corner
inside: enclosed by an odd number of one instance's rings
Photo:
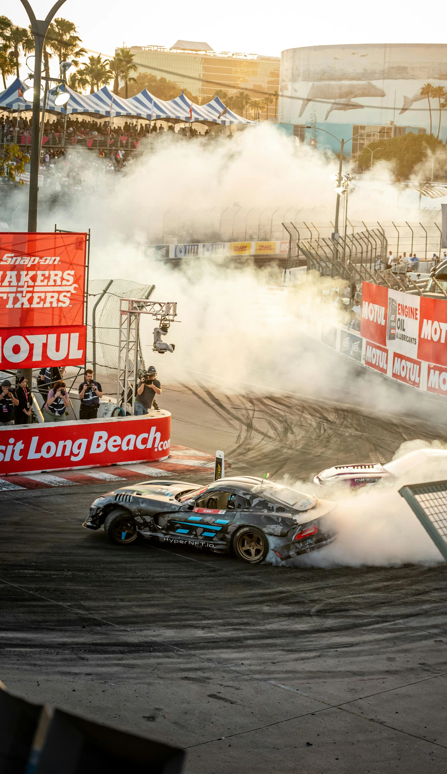
[[[139,535],[217,553],[232,550],[254,564],[267,556],[269,537],[282,560],[332,543],[334,508],[333,502],[248,476],[220,478],[201,488],[185,481],[146,481],[98,497],[84,527],[104,525],[119,546]]]

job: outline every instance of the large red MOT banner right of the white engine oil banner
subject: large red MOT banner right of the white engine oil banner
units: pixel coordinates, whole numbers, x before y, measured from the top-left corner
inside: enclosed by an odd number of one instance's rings
[[[418,358],[447,365],[447,301],[421,298]]]

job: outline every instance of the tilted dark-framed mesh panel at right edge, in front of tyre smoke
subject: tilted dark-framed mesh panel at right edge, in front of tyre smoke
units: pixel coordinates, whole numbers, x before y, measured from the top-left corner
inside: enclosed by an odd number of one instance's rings
[[[447,481],[412,484],[399,489],[425,532],[447,561]]]

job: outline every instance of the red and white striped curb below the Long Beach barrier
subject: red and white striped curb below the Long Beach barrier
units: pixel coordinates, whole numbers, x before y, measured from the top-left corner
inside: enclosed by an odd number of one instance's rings
[[[227,467],[229,467],[227,465]],[[0,491],[14,489],[46,489],[60,486],[75,486],[94,484],[100,481],[110,481],[116,487],[120,481],[125,486],[129,479],[141,480],[155,476],[187,475],[198,472],[211,474],[214,470],[214,457],[204,451],[189,449],[186,446],[172,446],[167,460],[151,462],[150,464],[111,465],[107,467],[91,467],[80,471],[52,471],[51,473],[30,473],[29,475],[12,475],[0,477]]]

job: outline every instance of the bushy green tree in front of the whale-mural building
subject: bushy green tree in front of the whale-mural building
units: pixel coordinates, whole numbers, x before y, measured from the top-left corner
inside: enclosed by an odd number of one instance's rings
[[[360,170],[369,170],[371,154],[368,149],[371,149],[375,151],[374,164],[378,161],[390,163],[394,180],[410,180],[411,176],[418,173],[418,167],[428,162],[432,154],[436,156],[438,149],[443,148],[442,141],[436,139],[434,135],[414,135],[413,132],[409,132],[401,137],[370,142],[359,154],[357,163]]]

